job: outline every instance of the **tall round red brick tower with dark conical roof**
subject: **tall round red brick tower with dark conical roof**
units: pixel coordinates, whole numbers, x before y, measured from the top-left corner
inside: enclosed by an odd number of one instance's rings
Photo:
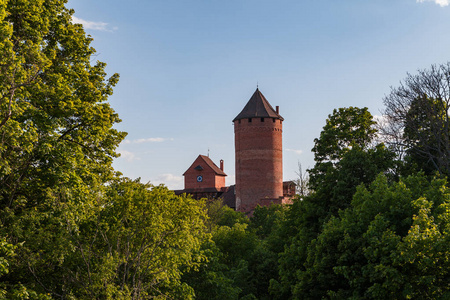
[[[257,204],[283,197],[283,117],[257,88],[234,118],[236,209],[250,212]]]

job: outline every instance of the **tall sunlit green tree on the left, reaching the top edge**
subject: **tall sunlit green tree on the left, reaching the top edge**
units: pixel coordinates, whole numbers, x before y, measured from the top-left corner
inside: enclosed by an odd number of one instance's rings
[[[118,75],[107,79],[104,63],[91,65],[92,39],[71,22],[65,2],[3,6],[10,35],[2,45],[12,49],[2,53],[0,81],[0,183],[8,207],[44,186],[111,178],[115,148],[125,136],[112,128],[120,119],[106,103]]]

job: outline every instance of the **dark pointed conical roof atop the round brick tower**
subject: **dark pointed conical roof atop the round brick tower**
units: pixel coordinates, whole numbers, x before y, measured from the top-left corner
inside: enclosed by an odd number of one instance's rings
[[[245,105],[244,109],[233,119],[233,122],[248,118],[275,118],[283,121],[283,117],[278,114],[267,101],[266,97],[256,88],[253,96]]]

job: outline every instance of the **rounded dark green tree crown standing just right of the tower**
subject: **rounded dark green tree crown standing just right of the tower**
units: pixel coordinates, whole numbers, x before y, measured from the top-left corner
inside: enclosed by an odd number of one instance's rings
[[[314,140],[316,164],[308,170],[315,191],[310,199],[315,199],[319,220],[345,209],[359,184],[370,184],[393,167],[393,153],[375,144],[375,124],[367,108],[335,109],[328,116],[320,138]]]

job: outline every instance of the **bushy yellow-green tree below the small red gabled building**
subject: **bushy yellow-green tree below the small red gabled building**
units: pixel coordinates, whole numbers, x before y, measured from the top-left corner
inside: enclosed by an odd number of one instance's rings
[[[86,256],[94,250],[93,260],[86,262],[91,266],[86,268],[97,274],[78,280],[88,283],[98,277],[85,287],[92,293],[88,296],[98,298],[103,290],[116,298],[105,289],[108,283],[111,290],[117,289],[119,295],[129,293],[133,299],[191,297],[192,289],[181,281],[181,275],[183,269],[198,268],[205,260],[200,250],[209,239],[204,202],[129,179],[112,183],[107,199],[95,226],[87,227],[92,231],[80,234],[90,237],[80,253]],[[97,240],[99,244],[92,249],[91,242]]]

